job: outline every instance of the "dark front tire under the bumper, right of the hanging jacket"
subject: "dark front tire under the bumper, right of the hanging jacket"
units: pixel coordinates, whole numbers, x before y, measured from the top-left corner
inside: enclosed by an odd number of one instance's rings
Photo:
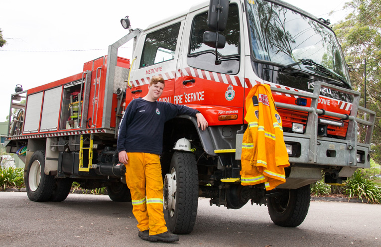
[[[297,227],[306,218],[310,206],[310,185],[284,190],[281,196],[267,199],[268,214],[275,225]]]

